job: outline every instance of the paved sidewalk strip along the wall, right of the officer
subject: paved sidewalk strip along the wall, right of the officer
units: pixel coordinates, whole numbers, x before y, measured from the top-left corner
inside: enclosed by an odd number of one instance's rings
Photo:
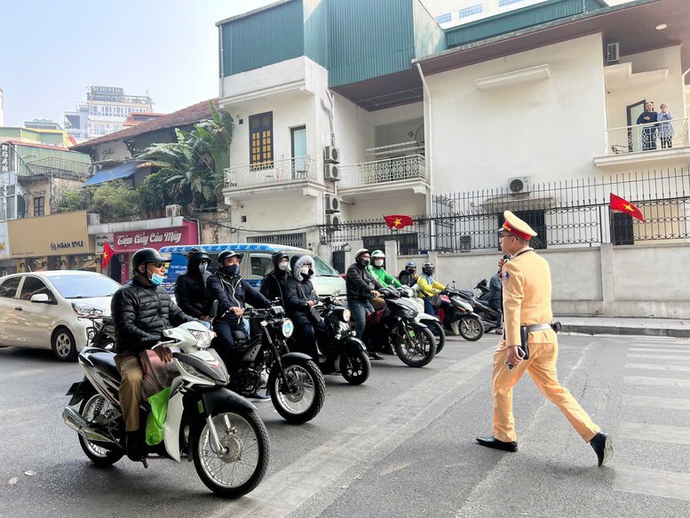
[[[553,320],[562,324],[562,332],[690,338],[690,320],[603,316],[554,316]]]

